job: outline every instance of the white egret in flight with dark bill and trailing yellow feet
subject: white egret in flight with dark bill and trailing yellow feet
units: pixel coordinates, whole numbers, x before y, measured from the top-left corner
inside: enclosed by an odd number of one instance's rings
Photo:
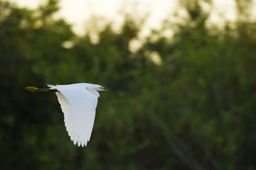
[[[68,135],[74,145],[86,146],[92,134],[97,98],[100,97],[98,91],[114,90],[87,83],[48,86],[50,89],[38,89],[33,86],[27,86],[25,89],[33,92],[55,92],[64,113]]]

